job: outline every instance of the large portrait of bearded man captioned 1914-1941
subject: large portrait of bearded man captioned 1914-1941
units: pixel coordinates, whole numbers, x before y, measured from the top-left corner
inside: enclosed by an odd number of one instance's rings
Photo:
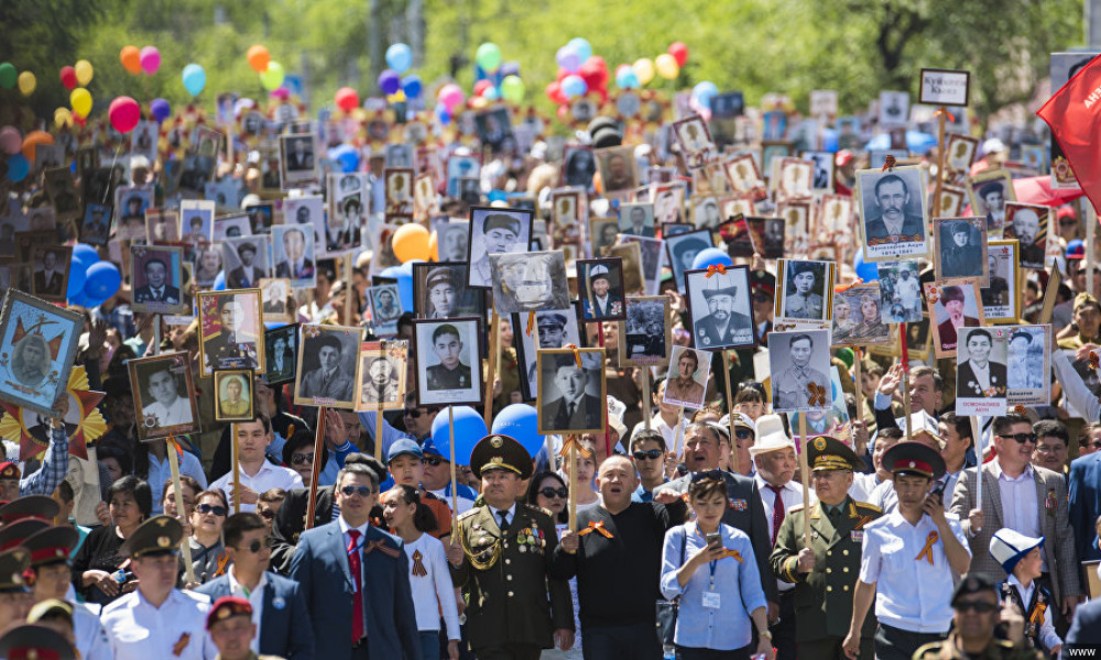
[[[925,172],[917,166],[857,172],[864,261],[928,255],[925,189]]]

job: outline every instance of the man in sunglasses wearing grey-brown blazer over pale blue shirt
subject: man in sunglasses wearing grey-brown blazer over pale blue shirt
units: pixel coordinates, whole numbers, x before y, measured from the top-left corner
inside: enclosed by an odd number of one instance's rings
[[[992,429],[998,457],[981,466],[983,508],[977,508],[975,468],[963,471],[952,496],[951,513],[960,517],[971,546],[970,570],[994,581],[1006,579],[988,551],[990,537],[1003,527],[1043,536],[1047,542],[1040,582],[1055,598],[1056,626],[1065,626],[1082,596],[1066,481],[1061,474],[1031,464],[1036,433],[1028,418],[1012,413],[995,417]]]

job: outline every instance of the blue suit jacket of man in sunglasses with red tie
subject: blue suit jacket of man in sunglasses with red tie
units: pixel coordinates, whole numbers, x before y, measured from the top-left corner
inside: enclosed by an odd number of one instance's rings
[[[410,565],[402,540],[381,529],[367,528],[361,550],[363,614],[371,658],[421,660],[421,637],[410,587]],[[355,582],[349,569],[340,522],[303,532],[291,560],[291,579],[302,585],[314,628],[314,656],[351,660],[351,598]]]

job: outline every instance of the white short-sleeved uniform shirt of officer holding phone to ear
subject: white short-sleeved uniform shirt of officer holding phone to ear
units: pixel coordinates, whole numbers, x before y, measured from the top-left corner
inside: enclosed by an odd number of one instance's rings
[[[959,517],[945,516],[952,536],[970,556]],[[894,512],[864,527],[860,581],[875,584],[875,616],[880,623],[911,632],[948,631],[955,614],[955,575],[944,540],[938,538],[933,543],[931,564],[925,557],[917,560],[933,532],[940,534],[928,514],[917,525],[911,525]]]

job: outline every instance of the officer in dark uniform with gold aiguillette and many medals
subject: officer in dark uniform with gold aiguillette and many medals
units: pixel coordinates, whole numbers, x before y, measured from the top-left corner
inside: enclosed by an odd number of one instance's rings
[[[467,635],[479,660],[536,660],[553,644],[574,646],[568,584],[549,579],[554,520],[520,504],[532,458],[508,436],[487,436],[470,454],[484,504],[459,516],[461,554],[451,578],[467,602]]]

